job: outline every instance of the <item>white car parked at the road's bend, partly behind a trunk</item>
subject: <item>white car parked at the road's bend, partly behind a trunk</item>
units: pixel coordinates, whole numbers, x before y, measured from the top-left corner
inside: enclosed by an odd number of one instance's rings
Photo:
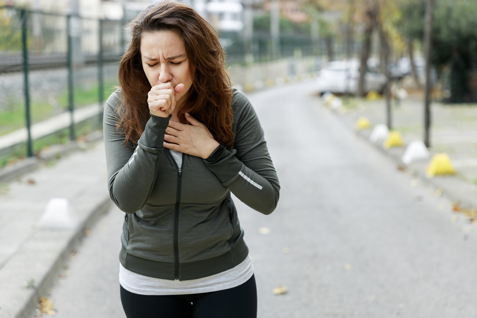
[[[357,59],[332,61],[318,72],[318,91],[323,94],[331,92],[335,94],[356,94],[358,92],[360,61]],[[372,72],[366,68],[364,74],[364,91],[382,92],[386,84],[386,76],[381,73]]]

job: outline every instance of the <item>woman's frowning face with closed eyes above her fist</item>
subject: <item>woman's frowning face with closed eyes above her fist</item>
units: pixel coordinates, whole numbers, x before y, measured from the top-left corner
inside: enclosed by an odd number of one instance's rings
[[[141,59],[151,86],[170,82],[174,87],[184,84],[176,100],[187,96],[192,79],[189,60],[182,37],[174,31],[145,33],[141,39]]]

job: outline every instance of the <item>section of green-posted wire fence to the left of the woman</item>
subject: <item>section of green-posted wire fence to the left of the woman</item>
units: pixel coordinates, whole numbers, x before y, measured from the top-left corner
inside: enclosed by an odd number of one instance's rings
[[[0,167],[100,127],[124,24],[0,7]]]

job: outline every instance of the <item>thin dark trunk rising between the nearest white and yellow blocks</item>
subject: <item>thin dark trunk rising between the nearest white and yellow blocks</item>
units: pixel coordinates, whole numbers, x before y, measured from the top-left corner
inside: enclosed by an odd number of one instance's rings
[[[434,0],[425,1],[424,49],[425,49],[425,99],[424,99],[424,143],[431,146],[429,128],[431,127],[430,90],[431,90],[431,44],[432,44],[432,11]]]

